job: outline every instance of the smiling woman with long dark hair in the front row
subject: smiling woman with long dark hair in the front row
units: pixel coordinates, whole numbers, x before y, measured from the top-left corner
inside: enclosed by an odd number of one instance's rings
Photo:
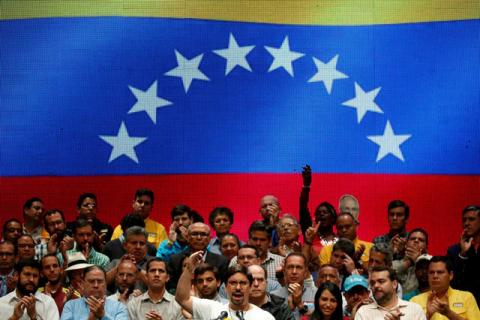
[[[342,293],[338,286],[325,282],[315,293],[315,311],[311,320],[343,320]]]

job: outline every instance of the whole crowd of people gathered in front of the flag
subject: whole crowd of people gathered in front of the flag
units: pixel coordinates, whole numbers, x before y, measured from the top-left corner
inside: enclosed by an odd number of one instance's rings
[[[166,229],[150,218],[149,189],[115,228],[98,219],[93,193],[71,222],[30,198],[23,221],[3,224],[0,319],[480,319],[479,206],[459,208],[458,243],[431,256],[404,201],[386,208],[388,233],[361,240],[355,196],[312,215],[309,166],[302,178],[299,218],[265,195],[244,241],[227,207],[204,221],[176,205]]]

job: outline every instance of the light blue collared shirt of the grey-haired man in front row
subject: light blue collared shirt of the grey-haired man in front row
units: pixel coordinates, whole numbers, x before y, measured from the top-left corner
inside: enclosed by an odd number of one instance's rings
[[[128,320],[127,308],[121,302],[105,299],[104,309],[105,315],[101,320]],[[88,319],[89,314],[90,308],[87,300],[82,297],[65,303],[61,320],[85,320]]]

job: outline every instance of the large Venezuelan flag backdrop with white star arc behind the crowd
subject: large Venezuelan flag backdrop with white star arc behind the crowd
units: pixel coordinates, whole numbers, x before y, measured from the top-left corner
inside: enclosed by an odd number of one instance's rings
[[[297,214],[360,200],[360,236],[411,206],[434,253],[480,202],[478,0],[0,0],[1,221],[31,196],[112,224],[135,189],[169,225],[186,203]]]

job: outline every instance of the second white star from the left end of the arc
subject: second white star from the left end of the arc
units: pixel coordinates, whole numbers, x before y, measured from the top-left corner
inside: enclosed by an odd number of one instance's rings
[[[157,123],[157,108],[169,106],[172,103],[168,100],[157,97],[157,81],[155,80],[147,91],[128,86],[130,91],[137,98],[137,102],[128,111],[128,113],[145,111],[153,123]]]

